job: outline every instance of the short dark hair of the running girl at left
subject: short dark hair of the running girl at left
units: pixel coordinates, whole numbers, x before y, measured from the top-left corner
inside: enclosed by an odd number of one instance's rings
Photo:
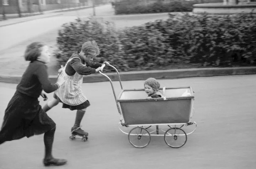
[[[41,55],[41,48],[45,46],[42,42],[33,42],[27,46],[25,51],[24,58],[26,61],[37,60],[37,58]]]

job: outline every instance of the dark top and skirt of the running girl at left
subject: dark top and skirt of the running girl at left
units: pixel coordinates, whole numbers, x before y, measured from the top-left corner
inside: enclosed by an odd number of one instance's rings
[[[43,62],[31,61],[5,110],[0,144],[39,135],[55,127],[55,122],[39,105],[38,97],[42,89],[51,93],[58,87],[58,84],[50,83],[47,67]]]

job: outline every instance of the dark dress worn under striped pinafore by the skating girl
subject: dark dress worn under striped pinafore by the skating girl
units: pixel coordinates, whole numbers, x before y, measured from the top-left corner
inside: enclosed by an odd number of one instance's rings
[[[80,59],[74,58],[74,57],[78,57]],[[91,62],[91,61],[86,62],[86,65],[84,65],[85,61],[84,59],[81,58],[78,52],[73,53],[73,55],[69,59],[71,58],[74,58],[74,59],[68,62],[65,70],[66,74],[69,76],[73,76],[76,72],[79,75],[90,75],[92,73],[95,73],[98,67],[102,66],[101,63]],[[55,93],[53,97],[57,99],[60,103],[63,103],[62,100]],[[90,102],[89,100],[86,100],[84,103],[81,103],[79,105],[68,105],[63,103],[62,108],[68,108],[70,110],[82,110],[89,106],[90,106]]]

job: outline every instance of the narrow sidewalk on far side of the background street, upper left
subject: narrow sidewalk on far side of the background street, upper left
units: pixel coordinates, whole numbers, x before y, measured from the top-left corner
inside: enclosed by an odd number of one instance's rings
[[[96,6],[96,5],[95,5]],[[50,10],[50,11],[43,11],[40,12],[34,12],[34,13],[22,13],[22,17],[18,18],[9,18],[5,21],[0,21],[0,27],[2,26],[8,26],[16,23],[22,23],[27,21],[32,21],[36,19],[46,18],[46,17],[53,17],[58,15],[63,15],[62,13],[57,12],[64,12],[64,11],[71,11],[71,10],[79,10],[79,9],[86,9],[91,8],[92,6],[81,6],[81,7],[74,7],[74,8],[66,8],[66,9],[60,9],[60,10]],[[18,16],[18,14],[8,14],[7,17],[10,16]]]

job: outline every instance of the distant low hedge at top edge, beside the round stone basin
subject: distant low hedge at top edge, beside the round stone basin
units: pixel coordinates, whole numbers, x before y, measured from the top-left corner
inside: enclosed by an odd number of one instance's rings
[[[194,4],[223,3],[223,0],[170,0],[147,3],[147,0],[124,0],[116,2],[115,13],[160,13],[160,12],[192,12]]]

